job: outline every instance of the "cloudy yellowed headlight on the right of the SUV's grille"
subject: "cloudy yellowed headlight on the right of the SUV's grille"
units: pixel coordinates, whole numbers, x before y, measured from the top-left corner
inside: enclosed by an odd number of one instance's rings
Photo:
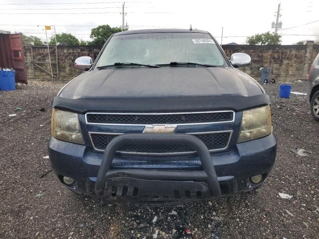
[[[270,106],[244,111],[238,143],[267,136],[271,131]]]

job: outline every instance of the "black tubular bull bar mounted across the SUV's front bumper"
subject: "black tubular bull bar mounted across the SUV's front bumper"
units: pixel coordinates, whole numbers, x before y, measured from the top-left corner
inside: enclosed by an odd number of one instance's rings
[[[202,170],[111,169],[116,150],[129,143],[187,144],[197,151]],[[114,192],[114,186],[112,185],[120,185],[121,190],[118,190],[117,193]],[[201,191],[206,188],[206,192],[204,192],[206,198],[219,197],[221,195],[211,155],[200,139],[190,134],[126,133],[115,137],[106,147],[95,183],[95,194],[97,197],[102,198],[103,201],[109,202],[113,199],[115,203],[129,204],[147,201],[145,194],[150,195],[150,197],[147,196],[149,201],[169,201],[171,197],[164,196],[164,198],[160,198],[159,196],[154,196],[154,194],[159,191],[168,193],[167,191],[172,190],[175,196],[174,199],[181,201],[182,197],[176,189],[189,192],[189,195],[187,193],[185,195],[186,199],[189,199],[191,197],[190,194],[193,195],[194,192],[190,192],[192,190],[187,191],[188,188],[195,188],[195,191]],[[144,191],[140,190],[143,192],[140,197],[137,194],[138,189],[144,189]],[[116,196],[120,197],[116,198]]]

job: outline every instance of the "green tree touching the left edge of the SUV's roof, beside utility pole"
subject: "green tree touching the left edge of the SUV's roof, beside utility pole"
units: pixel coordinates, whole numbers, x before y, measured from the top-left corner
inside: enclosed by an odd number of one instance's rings
[[[126,29],[124,29],[126,30]],[[100,25],[91,29],[90,38],[93,39],[93,45],[102,46],[107,41],[107,39],[114,33],[121,32],[120,27],[111,27],[109,25]]]

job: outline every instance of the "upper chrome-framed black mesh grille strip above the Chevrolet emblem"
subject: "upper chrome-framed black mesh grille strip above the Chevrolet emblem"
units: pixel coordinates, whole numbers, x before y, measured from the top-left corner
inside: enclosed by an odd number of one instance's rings
[[[187,124],[229,122],[234,120],[233,111],[198,113],[87,113],[87,123],[97,124]]]

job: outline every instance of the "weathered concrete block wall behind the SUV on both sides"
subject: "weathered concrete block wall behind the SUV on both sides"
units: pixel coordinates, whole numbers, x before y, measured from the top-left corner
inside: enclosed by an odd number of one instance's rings
[[[62,80],[70,80],[82,73],[73,67],[74,60],[79,56],[91,56],[96,59],[101,47],[97,46],[58,46],[58,72]],[[260,80],[261,67],[268,67],[272,60],[273,77],[281,81],[307,79],[309,68],[319,53],[319,45],[308,41],[306,45],[223,45],[230,59],[235,52],[245,52],[251,56],[252,63],[242,71]],[[25,65],[28,79],[50,79],[48,49],[44,46],[24,46]],[[55,47],[50,48],[52,72],[56,78]],[[33,62],[33,63],[32,63]],[[42,69],[41,69],[42,68]]]

